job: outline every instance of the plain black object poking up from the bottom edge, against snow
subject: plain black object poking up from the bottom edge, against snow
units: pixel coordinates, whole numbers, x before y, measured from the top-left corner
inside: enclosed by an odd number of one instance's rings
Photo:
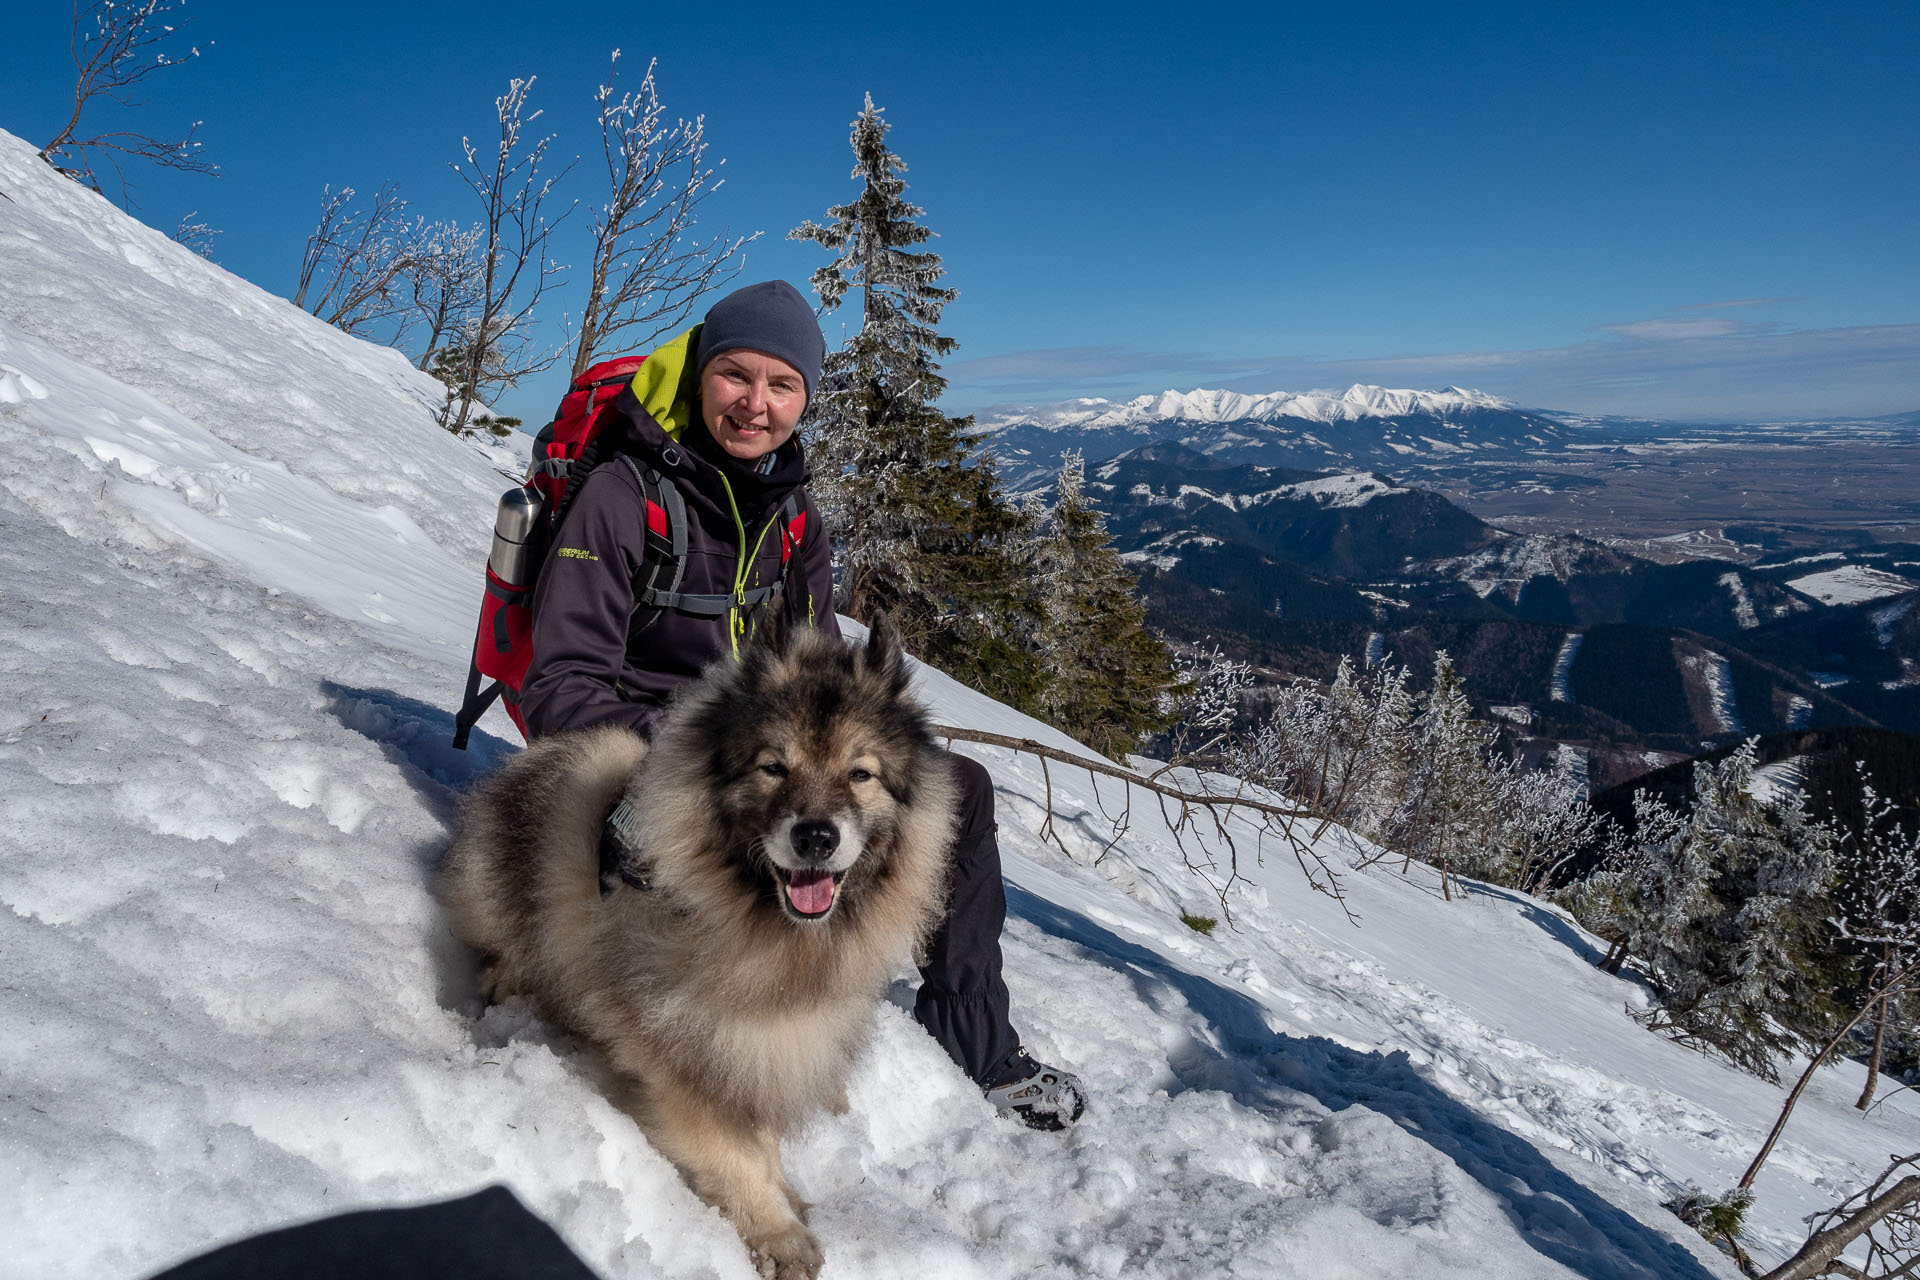
[[[503,1186],[234,1242],[154,1280],[599,1280]]]

